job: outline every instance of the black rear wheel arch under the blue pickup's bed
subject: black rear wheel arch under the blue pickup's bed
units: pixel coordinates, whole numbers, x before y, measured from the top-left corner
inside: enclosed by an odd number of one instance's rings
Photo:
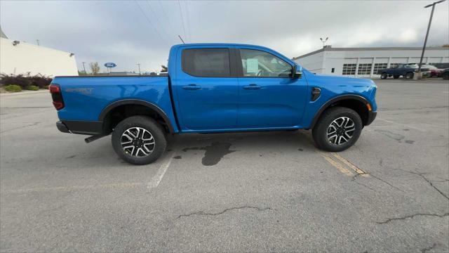
[[[103,122],[103,132],[109,134],[123,119],[137,115],[151,117],[156,120],[168,134],[174,132],[166,113],[157,105],[145,100],[124,99],[115,101],[102,110],[98,119]]]

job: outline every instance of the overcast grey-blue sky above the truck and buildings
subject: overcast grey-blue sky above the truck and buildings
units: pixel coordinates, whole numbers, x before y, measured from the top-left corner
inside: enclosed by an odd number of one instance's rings
[[[433,1],[0,1],[9,39],[75,53],[115,71],[160,70],[171,45],[236,42],[292,58],[322,47],[422,46]],[[142,13],[143,12],[143,13]],[[146,17],[145,17],[145,15]],[[438,4],[429,46],[449,44],[449,1]],[[102,67],[102,70],[105,70]]]

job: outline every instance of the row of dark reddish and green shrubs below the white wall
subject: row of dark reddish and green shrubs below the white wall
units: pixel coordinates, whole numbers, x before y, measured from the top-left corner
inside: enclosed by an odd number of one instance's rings
[[[0,86],[18,85],[21,89],[29,89],[35,91],[37,89],[48,89],[48,85],[51,83],[51,77],[44,76],[42,74],[36,74],[34,76],[28,74],[1,74]]]

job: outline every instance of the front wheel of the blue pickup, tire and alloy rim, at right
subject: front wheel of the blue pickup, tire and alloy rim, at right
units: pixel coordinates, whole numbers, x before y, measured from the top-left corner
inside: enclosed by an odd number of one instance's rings
[[[312,129],[312,136],[318,148],[340,152],[356,143],[362,128],[363,123],[357,112],[334,107],[323,112]]]

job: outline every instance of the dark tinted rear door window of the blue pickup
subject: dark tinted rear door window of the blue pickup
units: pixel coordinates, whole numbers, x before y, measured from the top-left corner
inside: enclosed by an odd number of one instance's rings
[[[230,77],[228,48],[195,48],[182,51],[182,71],[195,77]]]

